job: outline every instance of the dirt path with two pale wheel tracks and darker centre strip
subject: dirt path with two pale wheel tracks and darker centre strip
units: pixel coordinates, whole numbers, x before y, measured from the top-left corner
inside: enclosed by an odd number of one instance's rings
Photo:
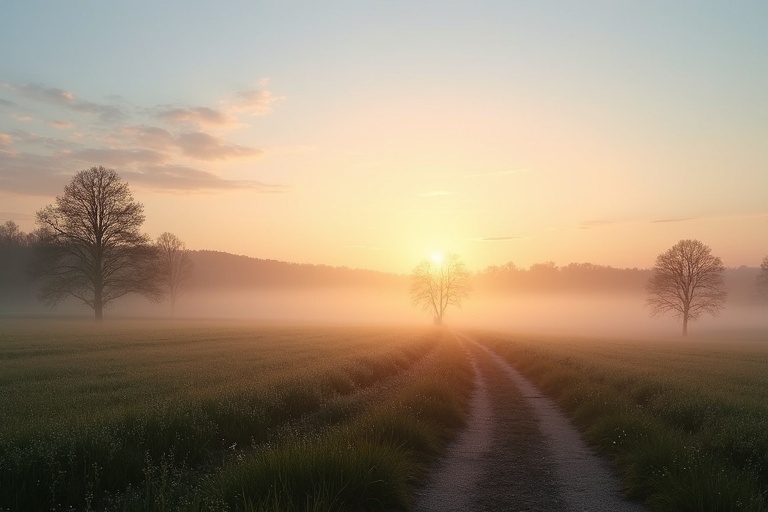
[[[464,342],[475,367],[470,419],[416,510],[642,511],[552,400],[499,356]]]

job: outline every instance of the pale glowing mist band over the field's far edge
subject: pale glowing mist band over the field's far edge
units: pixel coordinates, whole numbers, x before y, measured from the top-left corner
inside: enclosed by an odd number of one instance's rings
[[[476,293],[461,308],[448,309],[445,325],[575,337],[680,337],[680,321],[673,316],[650,316],[645,299],[643,293]],[[76,304],[68,304],[60,312],[64,311],[92,314],[90,309]],[[428,326],[432,321],[429,311],[412,306],[407,288],[355,287],[190,291],[179,299],[173,312],[167,302],[153,304],[133,297],[115,303],[106,310],[106,316],[329,325]],[[734,302],[717,317],[692,322],[690,335],[761,328],[768,328],[768,304]]]

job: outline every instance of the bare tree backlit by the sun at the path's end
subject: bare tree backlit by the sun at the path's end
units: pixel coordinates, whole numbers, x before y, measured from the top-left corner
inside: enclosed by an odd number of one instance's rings
[[[413,305],[432,311],[437,325],[443,323],[448,306],[461,307],[469,292],[469,272],[457,254],[441,262],[423,260],[411,274]]]

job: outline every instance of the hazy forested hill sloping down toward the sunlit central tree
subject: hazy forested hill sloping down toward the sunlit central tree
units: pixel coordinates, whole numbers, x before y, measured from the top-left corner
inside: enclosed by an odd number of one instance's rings
[[[408,277],[374,270],[262,260],[218,251],[190,251],[195,288],[403,287]]]

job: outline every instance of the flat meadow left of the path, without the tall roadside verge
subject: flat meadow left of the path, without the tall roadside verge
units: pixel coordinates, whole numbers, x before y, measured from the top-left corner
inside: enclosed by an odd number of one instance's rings
[[[222,509],[229,495],[212,483],[222,468],[273,445],[311,452],[308,439],[348,428],[409,370],[439,360],[442,336],[9,320],[0,333],[0,508],[10,510]]]

